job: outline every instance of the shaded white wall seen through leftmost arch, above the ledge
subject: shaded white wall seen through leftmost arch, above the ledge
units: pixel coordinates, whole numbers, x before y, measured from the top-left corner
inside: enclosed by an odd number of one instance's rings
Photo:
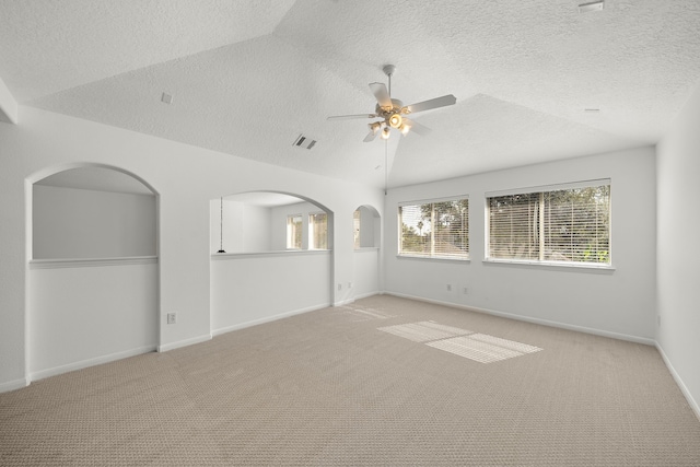
[[[156,255],[155,197],[34,185],[34,258]]]

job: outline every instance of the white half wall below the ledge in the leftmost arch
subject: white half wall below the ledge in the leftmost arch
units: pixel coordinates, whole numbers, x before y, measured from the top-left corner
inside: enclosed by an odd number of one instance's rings
[[[30,295],[32,380],[155,350],[155,259],[35,261]]]

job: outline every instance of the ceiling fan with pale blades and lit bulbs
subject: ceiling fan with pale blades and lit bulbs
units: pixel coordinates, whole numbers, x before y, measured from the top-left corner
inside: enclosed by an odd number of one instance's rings
[[[392,128],[399,130],[404,136],[408,135],[410,130],[413,130],[418,135],[427,135],[431,131],[430,128],[410,120],[406,116],[418,112],[430,110],[432,108],[446,107],[457,102],[457,98],[454,95],[447,94],[416,104],[404,105],[401,101],[392,98],[392,75],[394,74],[394,71],[396,71],[396,67],[387,65],[382,70],[389,78],[389,89],[387,91],[384,83],[370,83],[372,94],[374,94],[377,102],[374,114],[338,115],[328,117],[328,120],[381,118],[381,120],[368,124],[370,132],[364,137],[364,142],[373,141],[380,132],[382,133],[382,139],[388,139]]]

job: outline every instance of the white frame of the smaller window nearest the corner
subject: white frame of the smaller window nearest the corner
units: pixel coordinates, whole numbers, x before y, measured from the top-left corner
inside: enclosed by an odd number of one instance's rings
[[[448,254],[444,252],[435,250],[435,238],[434,231],[432,229],[432,224],[434,222],[434,205],[441,202],[452,202],[452,201],[466,201],[466,212],[462,215],[462,219],[466,220],[466,253],[464,254]],[[431,252],[429,254],[421,254],[417,252],[404,252],[404,220],[402,220],[402,208],[407,206],[417,206],[420,207],[424,205],[433,205],[431,208],[431,226],[430,226],[430,244]],[[398,224],[398,233],[397,233],[397,257],[398,258],[411,258],[411,259],[427,259],[427,260],[439,260],[439,261],[466,261],[469,262],[471,260],[471,247],[470,247],[470,236],[469,236],[469,196],[468,195],[456,195],[450,197],[441,197],[441,198],[430,198],[423,200],[415,200],[415,201],[400,201],[397,206],[397,224]],[[464,229],[462,229],[464,230]],[[422,234],[420,236],[423,236]]]

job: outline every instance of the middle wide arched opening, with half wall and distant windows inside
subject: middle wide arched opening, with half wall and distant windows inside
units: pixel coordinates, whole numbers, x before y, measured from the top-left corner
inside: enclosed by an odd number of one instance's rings
[[[294,194],[254,191],[212,199],[210,213],[212,334],[332,303],[328,208]]]

